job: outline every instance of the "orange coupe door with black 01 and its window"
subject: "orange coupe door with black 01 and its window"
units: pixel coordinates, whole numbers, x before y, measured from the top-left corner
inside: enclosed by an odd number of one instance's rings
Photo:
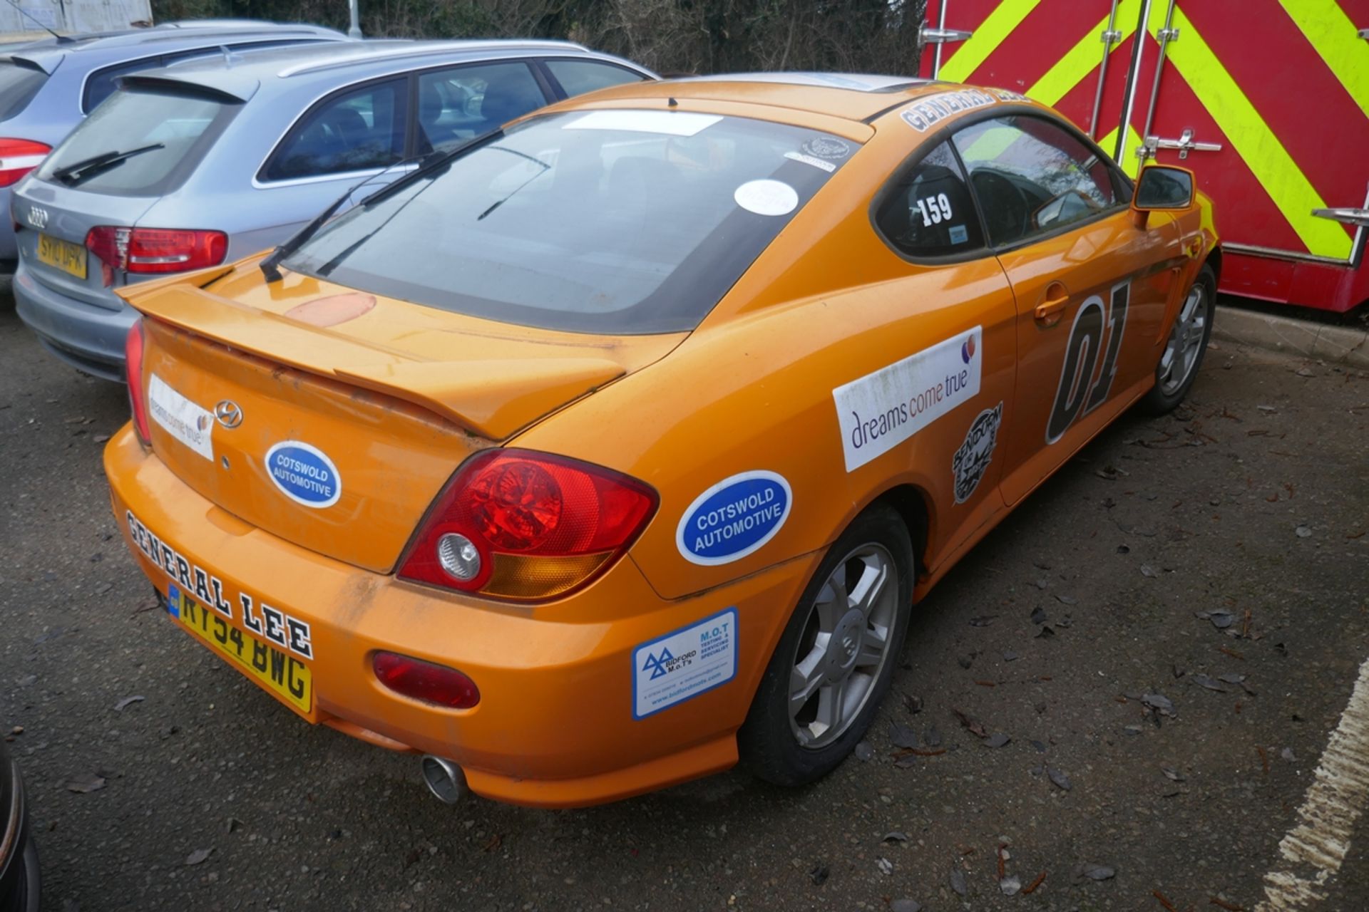
[[[984,118],[953,142],[1016,298],[1010,505],[1153,377],[1179,232],[1170,219],[1138,227],[1112,160],[1045,113]]]

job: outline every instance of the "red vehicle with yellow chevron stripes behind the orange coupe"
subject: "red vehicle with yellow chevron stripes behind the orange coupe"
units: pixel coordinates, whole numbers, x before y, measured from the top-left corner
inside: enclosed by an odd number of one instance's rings
[[[1191,168],[1221,290],[1369,302],[1369,0],[928,0],[927,77],[1054,107],[1127,174]]]

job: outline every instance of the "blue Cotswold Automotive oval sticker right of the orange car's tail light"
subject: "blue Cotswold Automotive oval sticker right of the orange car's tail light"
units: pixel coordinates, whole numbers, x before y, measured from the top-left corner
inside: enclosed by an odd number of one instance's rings
[[[731,563],[760,550],[794,505],[789,481],[773,472],[742,472],[698,495],[680,517],[675,544],[691,563]]]

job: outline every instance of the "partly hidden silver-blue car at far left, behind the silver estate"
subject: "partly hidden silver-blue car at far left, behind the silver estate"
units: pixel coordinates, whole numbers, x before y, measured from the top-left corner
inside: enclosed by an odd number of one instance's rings
[[[249,19],[177,22],[153,29],[41,38],[0,49],[0,212],[10,190],[115,89],[119,77],[225,48],[348,41],[318,26]],[[14,228],[0,219],[0,273],[14,272]]]

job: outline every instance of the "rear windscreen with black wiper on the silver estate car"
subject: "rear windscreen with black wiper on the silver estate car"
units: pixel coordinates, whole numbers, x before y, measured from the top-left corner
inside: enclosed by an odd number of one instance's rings
[[[38,179],[114,196],[162,196],[179,187],[241,109],[211,93],[159,85],[119,89],[42,163]],[[130,152],[108,165],[63,178],[79,163]]]

